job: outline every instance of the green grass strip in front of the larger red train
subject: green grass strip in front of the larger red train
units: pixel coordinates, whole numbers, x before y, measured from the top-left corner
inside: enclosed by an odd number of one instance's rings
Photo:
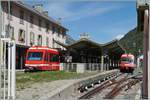
[[[65,71],[43,71],[43,72],[32,72],[32,73],[17,73],[16,83],[17,89],[25,89],[30,87],[31,84],[38,82],[50,82],[54,80],[62,79],[74,79],[84,76],[75,72]]]

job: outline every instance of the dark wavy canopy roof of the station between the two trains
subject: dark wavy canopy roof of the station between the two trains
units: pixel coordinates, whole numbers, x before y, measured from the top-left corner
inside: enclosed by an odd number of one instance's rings
[[[74,62],[99,63],[102,55],[119,59],[121,54],[124,53],[124,49],[118,40],[105,44],[99,44],[87,38],[81,38],[70,45],[65,45],[58,41],[55,42],[67,49],[68,54],[73,56]]]

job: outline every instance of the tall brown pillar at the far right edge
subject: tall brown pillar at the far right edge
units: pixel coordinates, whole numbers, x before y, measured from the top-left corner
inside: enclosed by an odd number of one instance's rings
[[[144,60],[146,60],[144,61],[144,70],[147,69],[147,73],[143,75],[143,78],[147,78],[145,79],[147,81],[147,86],[143,86],[143,88],[147,91],[147,93],[144,93],[147,95],[145,95],[144,98],[150,99],[150,2],[146,1],[145,3],[148,5],[148,9],[144,11]]]

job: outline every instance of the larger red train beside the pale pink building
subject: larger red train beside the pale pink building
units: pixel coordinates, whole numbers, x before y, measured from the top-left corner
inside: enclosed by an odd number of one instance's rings
[[[31,70],[59,70],[59,52],[44,46],[33,46],[27,50],[25,69]]]

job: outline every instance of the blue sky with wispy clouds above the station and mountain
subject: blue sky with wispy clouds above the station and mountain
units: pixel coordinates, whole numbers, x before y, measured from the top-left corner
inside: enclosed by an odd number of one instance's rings
[[[136,1],[75,1],[75,0],[26,0],[29,5],[43,4],[49,16],[58,20],[73,39],[88,33],[90,39],[107,43],[123,37],[137,26]]]

